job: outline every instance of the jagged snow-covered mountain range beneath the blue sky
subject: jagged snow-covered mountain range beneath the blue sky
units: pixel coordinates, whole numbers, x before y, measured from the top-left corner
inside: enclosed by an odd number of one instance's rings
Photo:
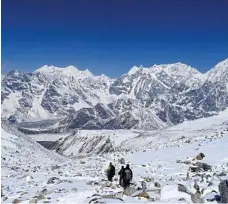
[[[57,119],[62,129],[159,129],[224,110],[227,83],[228,59],[205,74],[175,63],[134,66],[117,79],[45,65],[33,73],[5,75],[2,118]]]

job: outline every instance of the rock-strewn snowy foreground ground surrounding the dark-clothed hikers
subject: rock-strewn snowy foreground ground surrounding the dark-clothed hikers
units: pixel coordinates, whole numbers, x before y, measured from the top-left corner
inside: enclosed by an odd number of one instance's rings
[[[166,134],[173,139],[173,142],[163,135],[165,132],[161,132],[158,138],[154,137],[154,131],[151,131],[150,141],[156,143],[157,146],[156,148],[150,146],[148,149],[145,149],[141,145],[142,143],[140,144],[137,140],[140,134],[141,136],[144,134],[143,131],[81,130],[81,133],[75,136],[80,140],[87,138],[86,143],[74,140],[73,137],[68,138],[68,143],[65,143],[65,146],[59,146],[59,148],[64,147],[62,153],[67,156],[73,153],[73,157],[65,157],[64,159],[54,152],[45,150],[28,136],[18,135],[19,133],[12,127],[3,126],[1,181],[4,196],[2,196],[2,202],[193,203],[191,195],[195,194],[194,186],[196,185],[202,192],[200,198],[204,203],[210,202],[209,198],[220,194],[218,189],[220,179],[228,179],[226,115],[227,111],[211,118],[186,122],[188,125],[177,125],[176,129],[174,127],[167,128]],[[213,123],[213,120],[216,122]],[[202,124],[203,127],[201,127]],[[189,142],[185,142],[185,138],[182,137],[174,141],[176,136],[173,135],[173,131],[176,131],[175,134],[179,131],[179,135],[185,135],[186,139],[189,139],[191,135],[186,134],[188,130],[199,131],[195,135],[192,132],[192,137],[195,140],[191,139]],[[219,134],[217,134],[218,132]],[[200,136],[201,134],[202,136]],[[99,139],[102,135],[109,135],[113,147],[123,147],[124,141],[128,140],[132,144],[134,142],[135,148],[130,148],[130,151],[121,151],[124,148],[115,148],[109,153],[91,154],[88,157],[75,156],[78,153],[77,148],[79,148],[77,144],[83,145],[81,149],[85,154],[87,153],[86,149],[89,150],[93,146],[99,147],[99,144],[93,139]],[[162,136],[165,136],[163,143],[159,143],[158,139],[162,139]],[[143,140],[147,140],[147,137]],[[89,141],[93,142],[87,143]],[[67,146],[70,148],[66,148]],[[192,165],[187,163],[191,161],[189,158],[194,158],[201,152],[206,157],[200,162],[210,165],[211,170],[190,172],[189,167]],[[92,151],[91,153],[97,152]],[[118,184],[117,172],[122,166],[119,162],[121,158],[124,158],[125,163],[130,164],[133,170],[130,192]],[[116,175],[112,183],[107,181],[105,174],[109,162],[112,162],[116,167]],[[141,182],[144,182],[144,186],[146,186],[144,194],[141,194]],[[178,184],[184,186],[191,195],[180,192]]]

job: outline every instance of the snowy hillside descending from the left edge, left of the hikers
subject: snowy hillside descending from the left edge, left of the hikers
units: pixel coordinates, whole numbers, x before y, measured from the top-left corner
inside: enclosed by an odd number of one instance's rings
[[[63,161],[63,158],[48,151],[29,136],[24,135],[12,126],[2,124],[1,129],[1,173],[2,177],[10,174],[20,175],[26,169],[45,168]],[[42,160],[42,166],[40,161]]]

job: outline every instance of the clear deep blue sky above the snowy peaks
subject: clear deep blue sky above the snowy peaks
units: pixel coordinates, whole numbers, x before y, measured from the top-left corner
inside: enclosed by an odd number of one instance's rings
[[[2,0],[3,73],[75,65],[111,77],[228,57],[228,0]]]

